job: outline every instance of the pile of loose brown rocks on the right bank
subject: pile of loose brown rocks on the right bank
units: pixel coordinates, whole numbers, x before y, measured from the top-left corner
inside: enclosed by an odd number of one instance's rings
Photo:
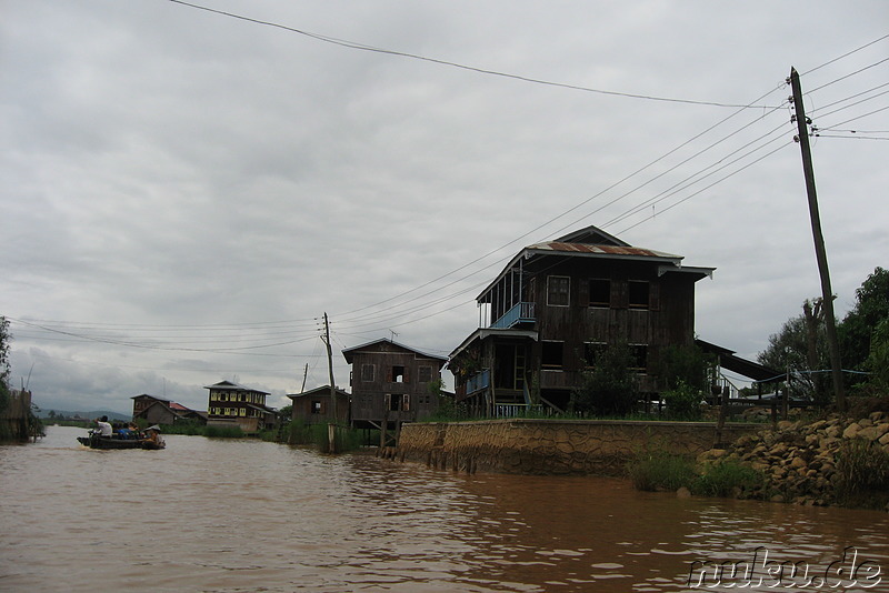
[[[857,449],[850,446],[853,441]],[[856,452],[858,460],[851,459]],[[845,465],[843,455],[848,460]],[[711,449],[698,456],[701,463],[718,460],[740,461],[763,474],[762,486],[745,496],[838,504],[856,488],[851,480],[867,482],[875,478],[868,473],[889,470],[883,466],[889,460],[889,414],[872,412],[858,420],[833,414],[809,423],[779,422],[773,430],[746,434],[727,449]],[[863,475],[850,476],[850,471]]]

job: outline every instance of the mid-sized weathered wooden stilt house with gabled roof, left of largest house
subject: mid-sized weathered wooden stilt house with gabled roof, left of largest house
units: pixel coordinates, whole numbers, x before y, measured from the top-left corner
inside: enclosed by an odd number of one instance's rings
[[[444,356],[427,354],[392,340],[377,340],[342,351],[352,365],[352,424],[380,428],[436,413],[438,398],[430,391],[441,380]]]

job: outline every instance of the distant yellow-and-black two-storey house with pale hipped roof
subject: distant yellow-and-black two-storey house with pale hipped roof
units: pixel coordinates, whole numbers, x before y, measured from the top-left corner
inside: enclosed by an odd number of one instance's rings
[[[239,426],[246,433],[274,426],[274,409],[266,405],[268,392],[233,381],[220,381],[203,389],[210,390],[208,425]]]

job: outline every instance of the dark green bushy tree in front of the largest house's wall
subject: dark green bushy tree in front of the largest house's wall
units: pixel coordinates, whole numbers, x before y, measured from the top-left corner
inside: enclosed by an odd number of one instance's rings
[[[571,408],[577,412],[627,414],[638,394],[638,380],[632,351],[627,344],[613,344],[596,358],[596,365],[586,371],[581,384],[571,393]]]

